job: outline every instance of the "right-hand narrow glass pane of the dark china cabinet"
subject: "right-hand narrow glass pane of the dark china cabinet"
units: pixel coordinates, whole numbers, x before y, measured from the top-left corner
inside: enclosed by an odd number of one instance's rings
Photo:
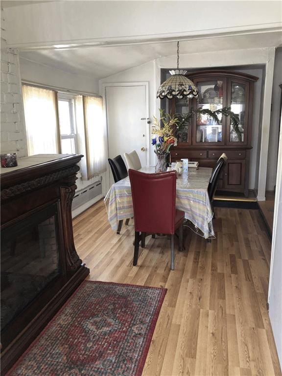
[[[231,81],[231,93],[230,93],[230,107],[231,111],[238,115],[239,124],[235,127],[233,124],[229,124],[227,129],[227,143],[234,144],[246,143],[247,132],[247,118],[246,113],[247,101],[248,101],[248,84],[244,82]]]

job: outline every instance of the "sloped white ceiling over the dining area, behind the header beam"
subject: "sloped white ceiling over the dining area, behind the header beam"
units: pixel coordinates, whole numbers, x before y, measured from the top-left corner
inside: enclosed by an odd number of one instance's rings
[[[211,38],[206,36],[201,39],[181,41],[180,54],[212,51],[220,53],[224,50],[279,46],[282,46],[282,34],[278,31]],[[26,60],[94,79],[101,79],[151,60],[172,55],[176,55],[176,42],[36,50],[20,53],[21,58]],[[181,58],[180,68],[185,68],[181,67]]]

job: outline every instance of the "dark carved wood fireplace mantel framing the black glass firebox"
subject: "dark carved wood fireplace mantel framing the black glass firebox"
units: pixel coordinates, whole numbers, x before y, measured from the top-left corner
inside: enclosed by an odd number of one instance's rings
[[[2,374],[15,363],[89,274],[74,246],[71,219],[71,203],[79,170],[77,163],[81,158],[82,155],[36,155],[19,159],[18,167],[0,170],[1,234],[13,234],[14,229],[19,232],[21,223],[34,222],[53,210],[60,262],[60,273],[56,278],[5,328],[1,328]],[[13,256],[11,252],[10,264]]]

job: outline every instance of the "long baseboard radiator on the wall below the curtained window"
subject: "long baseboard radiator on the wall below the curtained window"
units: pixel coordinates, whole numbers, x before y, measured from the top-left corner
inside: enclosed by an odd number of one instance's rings
[[[79,212],[87,209],[87,204],[89,204],[89,206],[93,205],[95,198],[98,200],[101,197],[102,182],[100,180],[78,192],[75,192],[71,206],[72,216],[76,216]],[[80,211],[79,208],[82,210]]]

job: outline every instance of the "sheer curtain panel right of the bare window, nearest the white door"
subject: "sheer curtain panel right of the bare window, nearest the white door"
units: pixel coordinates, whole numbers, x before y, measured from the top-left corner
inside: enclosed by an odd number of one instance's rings
[[[101,96],[83,96],[88,179],[107,170],[107,132]]]

